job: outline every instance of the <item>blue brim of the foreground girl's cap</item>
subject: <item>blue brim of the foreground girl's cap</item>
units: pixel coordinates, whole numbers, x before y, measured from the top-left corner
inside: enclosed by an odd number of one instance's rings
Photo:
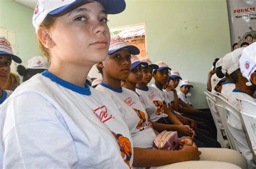
[[[103,8],[107,14],[117,14],[117,13],[123,12],[126,7],[124,0],[118,0],[118,1],[117,0],[95,0],[95,1],[76,0],[75,2],[73,2],[71,4],[64,5],[56,10],[49,12],[49,14],[56,15],[60,12],[65,11],[66,9],[70,8],[70,6],[72,6],[72,5],[75,5],[77,3],[83,3],[83,2],[98,2],[103,6]]]

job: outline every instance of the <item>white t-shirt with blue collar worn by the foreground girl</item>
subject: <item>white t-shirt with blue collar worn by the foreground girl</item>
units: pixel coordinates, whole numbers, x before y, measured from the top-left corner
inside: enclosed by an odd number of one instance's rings
[[[37,74],[0,107],[3,168],[128,168],[132,139],[118,111],[91,87]]]

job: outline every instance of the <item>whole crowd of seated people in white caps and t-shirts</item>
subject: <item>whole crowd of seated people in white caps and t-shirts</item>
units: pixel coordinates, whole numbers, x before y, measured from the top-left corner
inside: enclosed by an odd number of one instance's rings
[[[124,0],[39,0],[32,23],[45,57],[18,66],[21,85],[10,65],[22,60],[0,37],[0,167],[255,167],[246,140],[240,142],[242,154],[221,148],[221,123],[215,126],[211,112],[193,107],[190,81],[164,61],[139,59],[139,48],[110,36],[107,15],[125,6]],[[246,47],[240,63],[255,61],[252,47],[255,52],[255,43]],[[217,94],[232,81],[227,97],[237,107],[238,95],[255,102],[255,66],[248,78],[241,52],[215,60],[207,84]],[[102,79],[87,76],[95,64]],[[230,130],[243,136],[235,120]],[[167,135],[175,149],[161,147],[159,138]]]

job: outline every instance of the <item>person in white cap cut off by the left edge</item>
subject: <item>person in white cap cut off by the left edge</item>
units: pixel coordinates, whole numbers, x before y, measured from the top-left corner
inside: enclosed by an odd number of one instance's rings
[[[8,81],[11,72],[11,60],[18,64],[21,64],[22,62],[22,60],[12,52],[9,41],[5,37],[0,37],[0,104],[2,104],[12,93],[11,90],[2,89]]]

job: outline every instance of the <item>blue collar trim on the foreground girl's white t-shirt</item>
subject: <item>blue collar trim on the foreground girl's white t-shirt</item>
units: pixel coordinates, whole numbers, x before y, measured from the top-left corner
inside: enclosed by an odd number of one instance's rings
[[[86,84],[85,84],[85,87],[74,85],[70,82],[67,82],[65,80],[58,78],[56,75],[50,73],[49,71],[42,72],[42,75],[45,76],[46,78],[51,79],[51,81],[58,83],[60,86],[63,86],[72,91],[75,91],[76,93],[87,95],[87,96],[91,95],[90,87],[87,86]]]

